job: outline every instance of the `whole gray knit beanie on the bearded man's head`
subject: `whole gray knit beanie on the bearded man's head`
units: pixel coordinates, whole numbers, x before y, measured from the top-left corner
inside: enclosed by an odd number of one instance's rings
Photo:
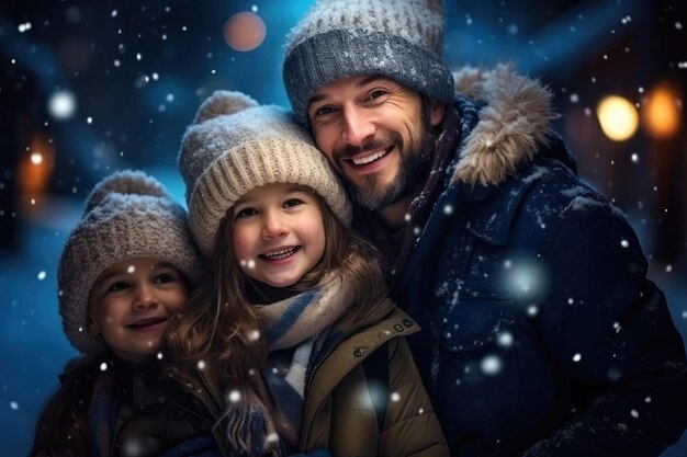
[[[383,75],[452,102],[443,30],[442,0],[316,0],[286,37],[283,78],[297,121],[308,125],[318,88],[354,75]]]

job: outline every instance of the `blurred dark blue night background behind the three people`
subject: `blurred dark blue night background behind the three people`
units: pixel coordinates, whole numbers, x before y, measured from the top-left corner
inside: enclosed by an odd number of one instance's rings
[[[2,456],[27,452],[36,413],[75,355],[57,313],[56,267],[83,197],[105,174],[140,168],[182,201],[176,158],[198,105],[217,89],[286,104],[282,43],[311,1],[104,3],[0,4]],[[650,256],[650,276],[687,335],[686,129],[663,141],[640,130],[613,144],[594,115],[609,93],[640,106],[655,84],[684,93],[685,7],[677,0],[541,3],[448,0],[446,59],[451,68],[510,60],[551,88],[563,115],[556,128],[577,153],[581,174],[628,214]],[[267,25],[266,41],[235,52],[223,25],[251,9]],[[58,90],[76,96],[70,119],[46,110]],[[43,164],[43,188],[26,191],[22,170],[36,151],[52,159]],[[665,453],[678,455],[687,455],[686,438]]]

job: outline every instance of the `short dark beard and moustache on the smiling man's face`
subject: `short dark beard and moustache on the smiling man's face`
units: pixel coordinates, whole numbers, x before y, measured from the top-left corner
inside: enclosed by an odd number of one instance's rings
[[[364,176],[360,186],[344,176],[344,183],[357,204],[370,210],[379,212],[414,193],[419,193],[420,186],[427,180],[433,157],[433,136],[428,124],[423,118],[418,128],[419,136],[410,138],[407,145],[403,144],[399,134],[392,133],[388,138],[375,139],[353,148],[353,151],[347,151],[350,155],[359,150],[379,150],[383,145],[391,142],[396,146],[401,155],[396,176],[386,186],[379,183],[375,174]],[[398,149],[399,147],[401,149]]]

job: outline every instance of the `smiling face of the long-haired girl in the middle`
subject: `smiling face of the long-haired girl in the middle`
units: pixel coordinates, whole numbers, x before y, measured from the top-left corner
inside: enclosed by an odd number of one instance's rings
[[[234,253],[241,271],[274,287],[299,282],[325,252],[325,227],[313,191],[267,184],[234,205]]]

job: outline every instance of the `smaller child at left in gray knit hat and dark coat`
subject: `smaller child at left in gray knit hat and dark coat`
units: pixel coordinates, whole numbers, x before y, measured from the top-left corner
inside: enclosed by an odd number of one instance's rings
[[[157,356],[198,275],[185,212],[160,183],[123,171],[95,185],[58,271],[63,327],[81,357],[44,408],[32,456],[159,456],[207,433],[206,412],[171,395]]]

